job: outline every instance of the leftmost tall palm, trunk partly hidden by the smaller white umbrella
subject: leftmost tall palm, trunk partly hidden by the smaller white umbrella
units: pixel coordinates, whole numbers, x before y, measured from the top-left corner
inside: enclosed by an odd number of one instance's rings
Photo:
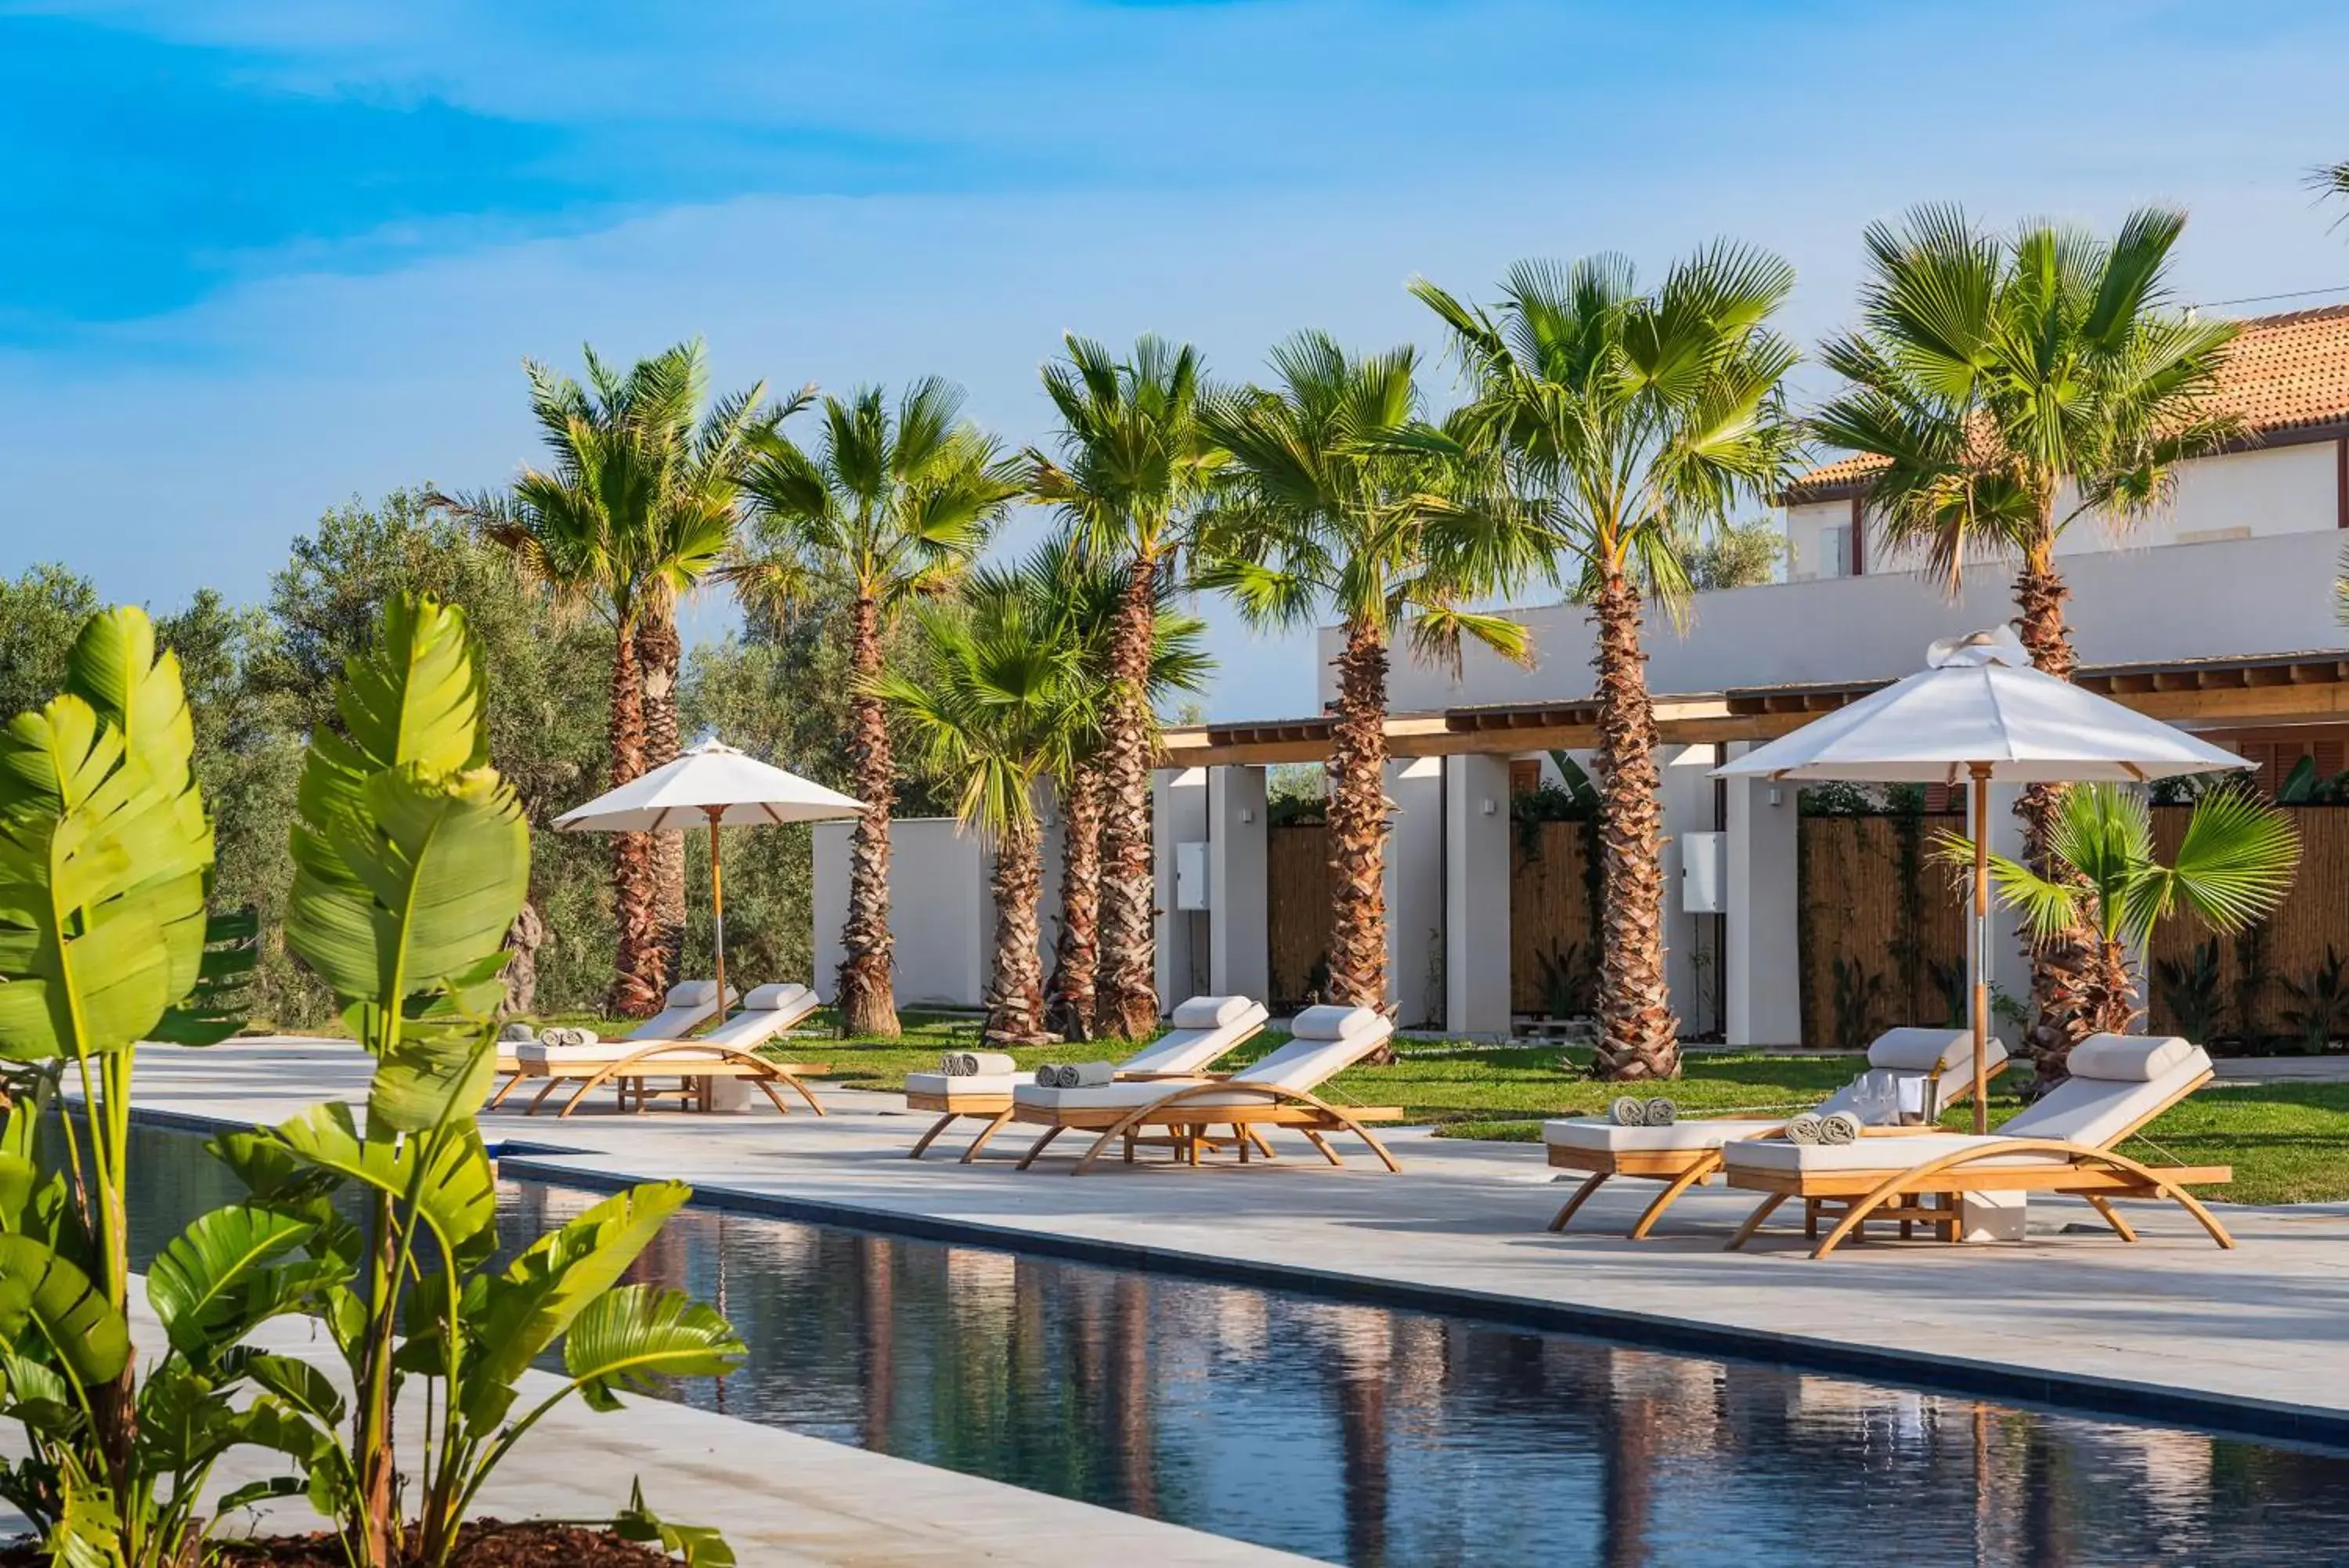
[[[561,599],[592,604],[611,621],[608,750],[611,783],[622,785],[677,755],[677,595],[723,552],[742,442],[775,414],[759,411],[756,386],[702,416],[700,341],[625,374],[594,348],[583,353],[585,388],[524,360],[547,468],[524,468],[507,494],[432,498],[472,517]],[[613,839],[620,940],[608,1006],[625,1018],[660,1006],[684,931],[684,844],[672,846],[674,858],[655,835]]]

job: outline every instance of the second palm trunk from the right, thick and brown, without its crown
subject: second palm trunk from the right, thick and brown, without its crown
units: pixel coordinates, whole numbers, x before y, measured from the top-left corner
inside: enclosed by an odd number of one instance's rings
[[[1600,924],[1602,1079],[1680,1077],[1680,1020],[1663,983],[1663,835],[1656,795],[1656,712],[1640,649],[1640,590],[1621,574],[1600,588],[1597,625],[1600,797],[1607,919]]]

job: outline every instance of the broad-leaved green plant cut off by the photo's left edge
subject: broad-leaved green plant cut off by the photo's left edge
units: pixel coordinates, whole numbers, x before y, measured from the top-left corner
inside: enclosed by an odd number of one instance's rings
[[[230,1406],[251,1371],[230,1347],[296,1305],[298,1222],[226,1208],[174,1239],[148,1274],[164,1347],[132,1366],[134,1046],[226,1039],[254,966],[251,917],[207,914],[193,750],[179,661],[136,609],[92,616],[66,691],[0,731],[0,1058],[35,1067],[0,1126],[0,1410],[26,1436],[0,1495],[59,1563],[190,1561],[214,1462],[280,1446]],[[63,1074],[82,1112],[49,1147]]]

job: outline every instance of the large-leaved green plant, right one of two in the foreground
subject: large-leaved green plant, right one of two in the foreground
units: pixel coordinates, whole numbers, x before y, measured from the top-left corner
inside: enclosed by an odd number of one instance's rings
[[[317,733],[294,827],[287,943],[336,994],[376,1058],[364,1121],[315,1105],[214,1152],[275,1225],[305,1225],[319,1260],[308,1307],[350,1373],[256,1373],[256,1410],[303,1469],[355,1568],[439,1566],[482,1483],[559,1401],[618,1408],[658,1378],[731,1368],[742,1345],[714,1309],[620,1286],[688,1197],[677,1182],[613,1194],[484,1274],[496,1182],[474,1121],[489,1088],[505,931],[529,884],[521,809],[489,766],[486,693],[465,616],[397,599]],[[352,1192],[364,1222],[336,1218]],[[561,1345],[564,1378],[524,1408],[521,1378]],[[423,1380],[430,1432],[402,1476],[392,1408]],[[413,1497],[413,1530],[402,1521]],[[709,1559],[705,1559],[709,1561]]]

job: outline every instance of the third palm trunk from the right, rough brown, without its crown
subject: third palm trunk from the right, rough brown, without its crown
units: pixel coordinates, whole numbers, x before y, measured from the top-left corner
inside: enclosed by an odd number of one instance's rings
[[[1330,999],[1386,1006],[1386,637],[1346,628],[1330,731]]]

